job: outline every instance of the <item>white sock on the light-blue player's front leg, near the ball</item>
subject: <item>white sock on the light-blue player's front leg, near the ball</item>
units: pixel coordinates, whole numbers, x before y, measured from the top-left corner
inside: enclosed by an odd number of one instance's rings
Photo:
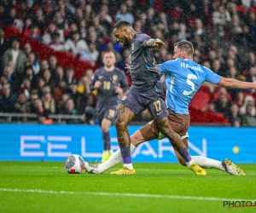
[[[131,153],[133,153],[133,151],[136,149],[136,147],[131,144],[130,149],[131,149]],[[108,170],[109,168],[113,167],[114,165],[119,164],[120,162],[122,162],[122,160],[123,160],[123,158],[122,158],[120,149],[118,149],[117,151],[115,151],[113,153],[113,155],[110,156],[110,158],[108,158],[108,160],[106,160],[102,164],[99,164],[98,169],[102,173],[103,171]],[[132,166],[132,164],[131,164],[131,166]],[[130,170],[132,170],[132,168]]]

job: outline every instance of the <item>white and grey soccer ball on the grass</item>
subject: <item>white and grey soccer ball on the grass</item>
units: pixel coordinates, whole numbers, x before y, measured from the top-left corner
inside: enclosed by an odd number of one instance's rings
[[[78,154],[70,155],[66,158],[64,167],[69,174],[80,174],[84,170],[84,159]]]

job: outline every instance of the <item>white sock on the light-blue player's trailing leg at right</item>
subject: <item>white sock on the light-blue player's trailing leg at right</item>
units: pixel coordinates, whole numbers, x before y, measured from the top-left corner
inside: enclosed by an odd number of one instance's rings
[[[206,158],[202,156],[191,156],[195,160],[195,164],[200,165],[202,168],[205,169],[217,169],[217,170],[224,170],[221,162],[212,158]]]

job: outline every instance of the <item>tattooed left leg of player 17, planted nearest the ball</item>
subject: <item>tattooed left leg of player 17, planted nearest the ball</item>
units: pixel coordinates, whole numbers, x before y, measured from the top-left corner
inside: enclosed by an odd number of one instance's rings
[[[131,164],[131,138],[129,135],[128,124],[136,117],[136,114],[129,108],[119,104],[118,117],[115,120],[115,127],[119,141],[120,153],[123,158],[123,167],[112,175],[133,175],[135,170]]]

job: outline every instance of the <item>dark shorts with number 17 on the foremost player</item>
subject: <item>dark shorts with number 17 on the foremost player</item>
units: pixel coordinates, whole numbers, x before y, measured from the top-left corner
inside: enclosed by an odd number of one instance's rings
[[[131,88],[122,98],[120,104],[131,109],[136,115],[145,109],[148,109],[154,119],[165,118],[168,115],[165,101],[156,92],[138,93]]]

